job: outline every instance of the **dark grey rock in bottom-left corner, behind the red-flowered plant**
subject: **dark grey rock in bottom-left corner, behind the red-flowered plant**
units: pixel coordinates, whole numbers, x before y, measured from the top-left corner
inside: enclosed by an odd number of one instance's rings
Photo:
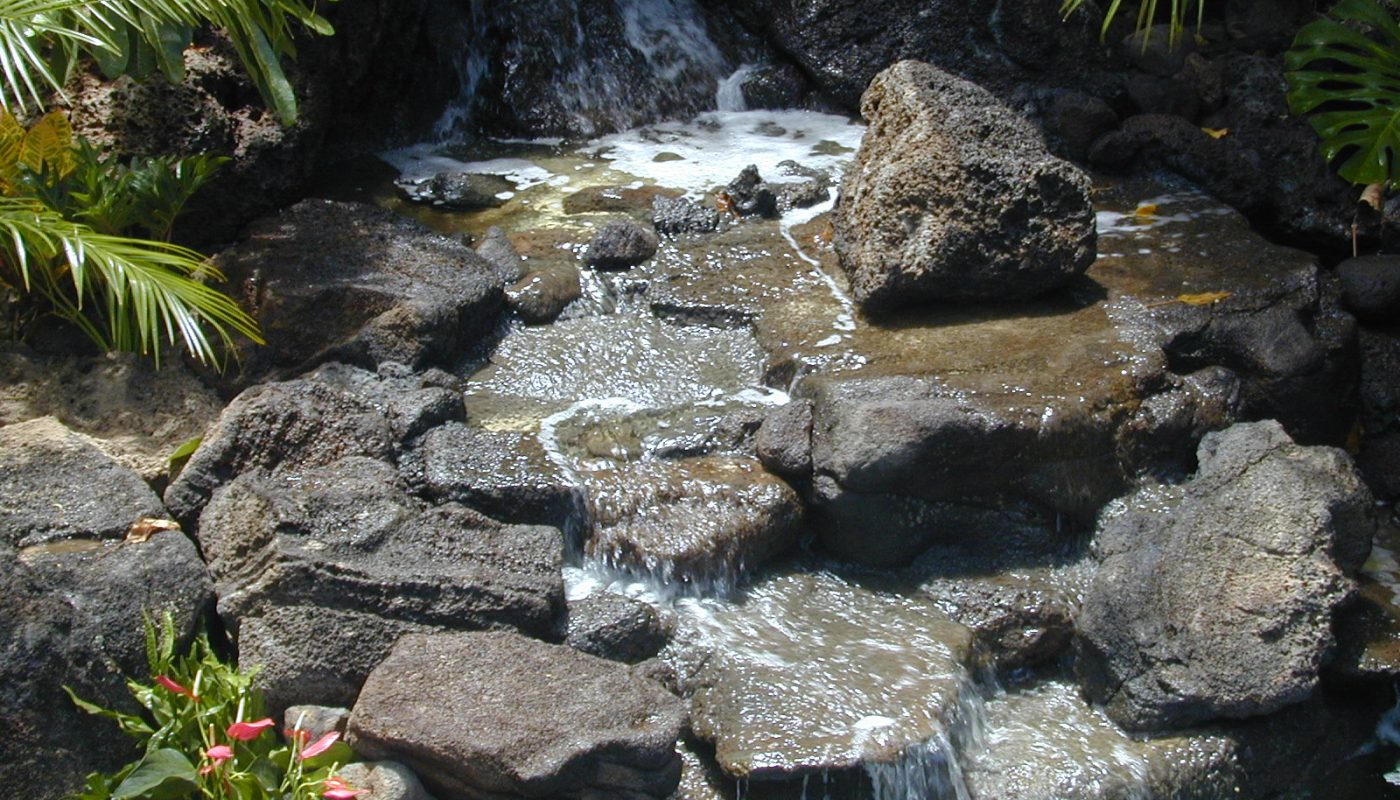
[[[188,642],[211,600],[199,553],[178,531],[140,544],[0,544],[0,794],[57,800],[87,772],[133,759],[130,740],[62,687],[136,713],[126,678],[148,677],[141,614],[171,611]]]

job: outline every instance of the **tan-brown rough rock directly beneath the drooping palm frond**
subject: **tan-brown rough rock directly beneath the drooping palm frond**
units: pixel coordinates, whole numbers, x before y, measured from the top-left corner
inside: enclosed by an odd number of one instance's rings
[[[0,346],[0,426],[55,416],[148,483],[223,406],[179,359],[157,370],[134,353],[43,357]]]

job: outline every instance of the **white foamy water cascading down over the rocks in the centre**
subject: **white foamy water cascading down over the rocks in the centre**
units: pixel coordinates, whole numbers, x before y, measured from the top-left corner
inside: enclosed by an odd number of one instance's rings
[[[749,164],[769,181],[834,186],[860,146],[864,129],[841,116],[743,111],[739,85],[752,67],[710,41],[694,0],[616,0],[616,18],[634,50],[629,63],[640,59],[647,81],[700,87],[720,111],[638,126],[648,111],[629,106],[636,76],[592,59],[587,20],[570,1],[560,8],[571,27],[552,53],[563,105],[584,129],[601,120],[624,130],[570,142],[463,139],[491,57],[501,57],[489,31],[503,11],[487,6],[470,4],[463,99],[444,113],[440,142],[382,157],[409,184],[444,171],[503,177],[501,205],[451,213],[407,203],[386,185],[374,199],[442,231],[482,237],[501,227],[526,270],[581,265],[601,226],[650,221],[658,195],[714,207]],[[693,696],[701,740],[686,745],[678,797],[1137,800],[1162,786],[1229,794],[1231,743],[1137,741],[1054,668],[1021,674],[1009,688],[986,668],[974,630],[959,622],[959,598],[1044,587],[1051,604],[1072,608],[1089,573],[1072,542],[1039,562],[1009,549],[1004,563],[959,560],[966,553],[935,548],[899,573],[811,555],[770,560],[804,552],[794,548],[805,537],[801,500],[749,455],[750,440],[804,375],[883,371],[913,357],[962,375],[959,391],[993,387],[1015,402],[1044,392],[1037,380],[1063,380],[1050,371],[1012,385],[976,361],[988,353],[1015,361],[1021,328],[946,319],[952,339],[930,346],[914,328],[858,322],[830,268],[823,214],[833,200],[834,191],[780,220],[725,219],[717,234],[664,237],[657,256],[631,270],[585,268],[582,297],[559,321],[514,319],[462,366],[469,423],[532,440],[587,506],[566,569],[570,600],[624,594],[675,625],[662,660]],[[1210,234],[1191,226],[1217,206],[1179,195],[1142,203],[1154,213],[1130,206],[1099,216],[1110,269],[1210,247]],[[1109,304],[1036,317],[1064,319],[1046,338],[1091,353],[1121,380],[1152,347],[1113,328],[1114,314]],[[1089,389],[1053,391],[1070,402]],[[1386,558],[1378,551],[1372,570],[1400,574]]]

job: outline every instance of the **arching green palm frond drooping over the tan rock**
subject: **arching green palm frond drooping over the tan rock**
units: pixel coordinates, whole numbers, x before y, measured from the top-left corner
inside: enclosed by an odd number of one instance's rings
[[[0,198],[0,258],[18,284],[43,294],[106,349],[158,360],[164,333],[172,346],[183,342],[193,357],[218,366],[210,332],[225,349],[234,333],[262,343],[253,319],[200,280],[223,279],[218,270],[179,245],[99,234],[36,200]],[[94,303],[99,308],[84,307]]]

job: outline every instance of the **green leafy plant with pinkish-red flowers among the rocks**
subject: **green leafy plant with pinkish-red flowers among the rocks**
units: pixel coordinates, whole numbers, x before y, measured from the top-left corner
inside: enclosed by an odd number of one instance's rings
[[[69,696],[83,710],[108,717],[141,743],[143,755],[115,775],[92,773],[77,800],[353,800],[360,790],[336,775],[353,759],[337,733],[312,741],[300,729],[277,737],[262,716],[253,671],[221,661],[203,635],[188,654],[175,653],[169,614],[160,630],[146,621],[151,684],[127,681],[144,715],[104,709]]]

